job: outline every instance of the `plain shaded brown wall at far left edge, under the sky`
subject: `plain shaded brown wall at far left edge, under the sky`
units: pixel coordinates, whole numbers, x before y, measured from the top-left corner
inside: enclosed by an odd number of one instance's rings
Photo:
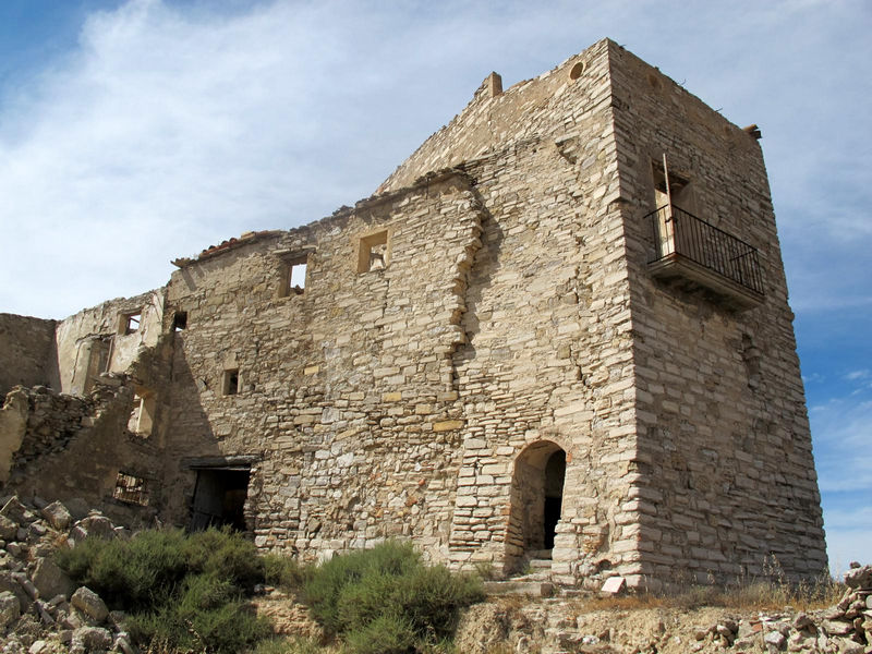
[[[60,388],[55,320],[0,313],[0,395],[13,386]]]

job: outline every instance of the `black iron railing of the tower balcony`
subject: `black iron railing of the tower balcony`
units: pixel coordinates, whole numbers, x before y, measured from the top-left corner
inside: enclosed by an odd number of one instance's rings
[[[645,218],[654,234],[652,264],[680,255],[763,294],[763,275],[754,246],[675,205],[661,207]]]

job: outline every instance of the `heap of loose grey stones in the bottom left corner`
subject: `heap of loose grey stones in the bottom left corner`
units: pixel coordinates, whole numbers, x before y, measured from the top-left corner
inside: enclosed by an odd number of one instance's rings
[[[90,589],[76,586],[53,561],[59,547],[87,536],[128,537],[83,501],[0,498],[0,653],[89,654],[136,649],[124,616]]]

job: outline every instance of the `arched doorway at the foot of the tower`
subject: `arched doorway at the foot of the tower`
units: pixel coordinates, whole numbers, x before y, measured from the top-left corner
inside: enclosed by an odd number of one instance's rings
[[[556,443],[529,445],[514,460],[507,534],[507,567],[523,558],[547,556],[560,521],[566,451]]]

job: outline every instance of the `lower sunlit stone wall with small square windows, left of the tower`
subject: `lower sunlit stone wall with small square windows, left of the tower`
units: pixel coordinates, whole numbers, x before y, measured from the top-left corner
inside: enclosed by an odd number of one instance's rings
[[[250,455],[259,545],[314,556],[407,535],[444,557],[462,425],[451,354],[481,219],[449,172],[175,272],[172,518],[186,520],[195,479],[179,461]],[[358,272],[360,239],[382,231],[387,267]],[[283,262],[306,252],[304,292],[280,296]],[[222,395],[225,370],[238,395]]]

